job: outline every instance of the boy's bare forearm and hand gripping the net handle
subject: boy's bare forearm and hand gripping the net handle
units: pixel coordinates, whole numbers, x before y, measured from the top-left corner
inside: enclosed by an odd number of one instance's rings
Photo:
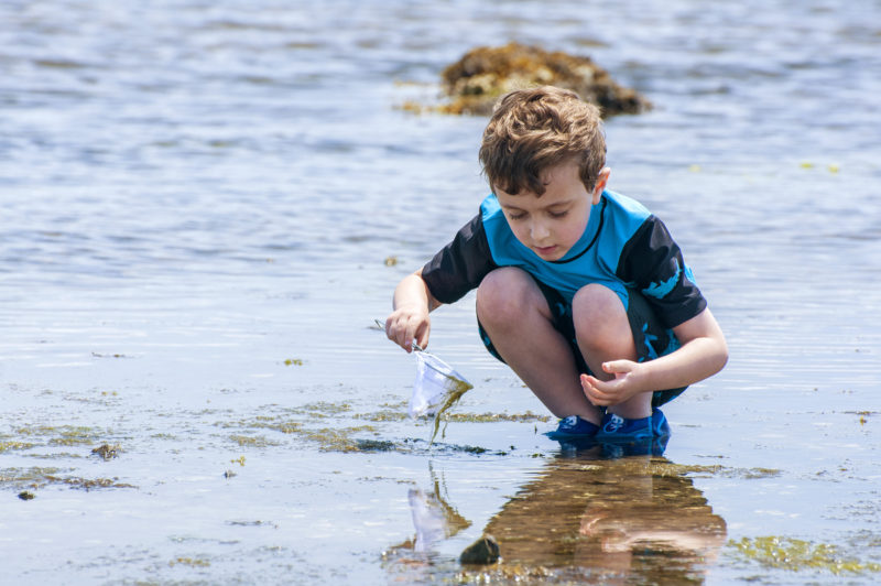
[[[413,350],[414,339],[425,348],[432,329],[428,313],[440,305],[423,281],[422,269],[404,276],[394,290],[393,311],[385,319],[385,335],[407,352]]]

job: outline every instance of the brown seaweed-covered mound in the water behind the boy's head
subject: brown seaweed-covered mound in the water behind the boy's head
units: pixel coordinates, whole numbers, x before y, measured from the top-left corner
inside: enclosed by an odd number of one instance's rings
[[[646,98],[617,84],[609,72],[590,57],[520,43],[472,48],[440,75],[444,93],[450,99],[436,108],[444,113],[489,115],[502,95],[544,85],[575,91],[599,106],[603,117],[639,113],[651,108]]]

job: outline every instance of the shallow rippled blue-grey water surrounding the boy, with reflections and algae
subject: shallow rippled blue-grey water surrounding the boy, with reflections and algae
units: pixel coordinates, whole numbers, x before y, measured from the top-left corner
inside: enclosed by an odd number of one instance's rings
[[[877,583],[880,23],[873,1],[3,2],[0,583]],[[434,314],[475,389],[429,448],[413,357],[371,327],[486,192],[486,120],[400,106],[509,40],[655,104],[609,120],[610,186],[665,219],[731,349],[665,409],[663,457],[541,435],[472,296]],[[485,531],[501,564],[458,564]]]

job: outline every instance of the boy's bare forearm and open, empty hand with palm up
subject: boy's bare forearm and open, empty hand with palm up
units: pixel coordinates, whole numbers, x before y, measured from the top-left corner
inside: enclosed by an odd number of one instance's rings
[[[648,362],[603,362],[602,370],[614,375],[609,381],[583,375],[581,387],[590,402],[613,405],[641,392],[686,387],[711,377],[728,361],[725,335],[708,308],[673,332],[682,343],[674,352]]]

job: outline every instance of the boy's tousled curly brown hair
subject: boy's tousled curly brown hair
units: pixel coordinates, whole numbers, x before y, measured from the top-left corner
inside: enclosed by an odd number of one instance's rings
[[[599,108],[553,86],[512,91],[496,105],[479,159],[490,188],[539,196],[545,192],[545,170],[576,160],[590,192],[606,164]]]

